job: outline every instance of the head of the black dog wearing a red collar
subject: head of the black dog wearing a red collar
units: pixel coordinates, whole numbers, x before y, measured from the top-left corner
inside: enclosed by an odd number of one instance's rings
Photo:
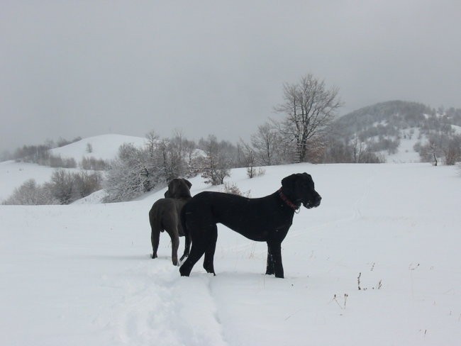
[[[320,206],[322,197],[313,186],[310,174],[296,173],[282,179],[282,191],[296,206],[301,203],[306,208]]]

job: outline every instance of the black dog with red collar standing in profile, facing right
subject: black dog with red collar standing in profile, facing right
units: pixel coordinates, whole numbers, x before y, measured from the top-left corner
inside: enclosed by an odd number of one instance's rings
[[[301,203],[306,208],[320,205],[321,196],[307,173],[291,174],[282,179],[282,188],[260,199],[247,199],[221,192],[201,192],[181,212],[185,233],[192,249],[179,268],[188,277],[194,264],[205,254],[204,268],[213,273],[213,256],[218,238],[216,223],[222,223],[246,238],[267,242],[266,274],[284,277],[281,245]]]

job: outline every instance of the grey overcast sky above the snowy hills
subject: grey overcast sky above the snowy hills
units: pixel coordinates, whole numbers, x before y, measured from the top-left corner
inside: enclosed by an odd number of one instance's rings
[[[340,114],[461,108],[461,1],[0,0],[0,151],[174,129],[236,143],[308,73]]]

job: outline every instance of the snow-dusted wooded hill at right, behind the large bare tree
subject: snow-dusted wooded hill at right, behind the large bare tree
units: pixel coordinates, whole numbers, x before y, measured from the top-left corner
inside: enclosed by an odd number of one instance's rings
[[[358,141],[387,162],[420,162],[422,150],[415,145],[423,147],[434,140],[440,147],[436,155],[443,157],[443,146],[461,134],[460,126],[460,109],[435,111],[416,102],[387,101],[338,118],[333,130],[336,140]]]

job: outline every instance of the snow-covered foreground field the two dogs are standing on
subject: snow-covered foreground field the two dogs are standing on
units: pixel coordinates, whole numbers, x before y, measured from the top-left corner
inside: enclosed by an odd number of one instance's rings
[[[309,172],[323,197],[294,216],[285,279],[264,274],[264,243],[222,225],[216,277],[202,261],[180,277],[165,233],[150,259],[148,211],[165,189],[126,203],[0,206],[1,345],[459,345],[456,169],[265,170],[229,180],[260,197]],[[220,189],[191,182],[192,194]]]

